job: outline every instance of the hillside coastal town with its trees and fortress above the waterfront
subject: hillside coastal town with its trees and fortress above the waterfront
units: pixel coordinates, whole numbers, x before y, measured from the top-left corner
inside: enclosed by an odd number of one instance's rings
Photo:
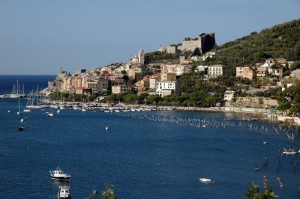
[[[73,73],[60,67],[41,93],[56,104],[101,102],[123,108],[246,112],[256,119],[300,125],[299,110],[291,112],[293,103],[286,104],[290,97],[279,101],[274,94],[299,85],[297,58],[270,57],[263,52],[261,62],[230,67],[214,62],[223,54],[215,33],[202,33],[176,45],[159,46],[156,52],[141,49],[122,63]],[[24,97],[24,93],[4,97]]]

